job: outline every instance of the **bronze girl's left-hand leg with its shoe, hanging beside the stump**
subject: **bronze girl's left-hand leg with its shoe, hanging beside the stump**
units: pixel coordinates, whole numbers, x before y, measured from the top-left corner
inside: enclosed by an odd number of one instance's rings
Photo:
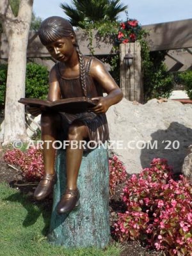
[[[56,140],[56,133],[60,127],[61,119],[56,113],[42,113],[41,129],[43,145],[43,159],[45,174],[35,189],[34,197],[42,200],[48,196],[54,185],[56,177],[54,175],[54,160],[56,150],[52,147],[52,142]]]

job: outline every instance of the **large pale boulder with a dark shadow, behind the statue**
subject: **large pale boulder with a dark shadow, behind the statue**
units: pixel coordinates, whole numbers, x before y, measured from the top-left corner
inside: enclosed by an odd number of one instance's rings
[[[192,139],[191,116],[192,105],[176,100],[134,104],[123,99],[107,112],[113,152],[128,173],[139,173],[155,157],[168,159],[173,171],[181,172]]]

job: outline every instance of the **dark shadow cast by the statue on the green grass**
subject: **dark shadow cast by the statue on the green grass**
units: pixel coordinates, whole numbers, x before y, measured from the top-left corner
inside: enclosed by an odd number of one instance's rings
[[[10,202],[18,202],[21,204],[26,211],[28,212],[26,215],[25,220],[23,221],[22,225],[24,227],[29,227],[34,225],[40,215],[44,218],[45,227],[42,230],[42,235],[46,236],[49,230],[50,220],[51,220],[51,207],[48,204],[48,201],[45,200],[44,202],[35,202],[31,200],[31,196],[25,195],[22,192],[17,192],[13,195],[10,195],[3,199],[4,201]]]

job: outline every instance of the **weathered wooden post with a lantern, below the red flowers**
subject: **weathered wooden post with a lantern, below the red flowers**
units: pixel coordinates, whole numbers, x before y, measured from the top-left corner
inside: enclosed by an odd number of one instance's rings
[[[130,49],[131,67],[125,67],[124,57]],[[120,44],[120,88],[127,100],[143,103],[143,76],[141,72],[141,46],[138,42]]]

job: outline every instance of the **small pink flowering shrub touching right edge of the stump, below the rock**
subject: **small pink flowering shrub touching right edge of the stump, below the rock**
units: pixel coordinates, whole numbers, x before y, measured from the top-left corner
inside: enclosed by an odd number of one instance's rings
[[[118,157],[113,156],[109,159],[109,191],[111,195],[115,193],[116,185],[125,181],[126,177],[125,166]]]

